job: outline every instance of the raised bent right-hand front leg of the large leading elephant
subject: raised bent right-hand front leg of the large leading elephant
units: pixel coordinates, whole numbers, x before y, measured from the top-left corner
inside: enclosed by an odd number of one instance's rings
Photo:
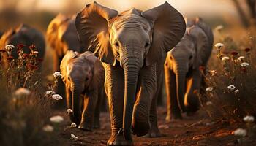
[[[139,91],[132,116],[132,132],[140,137],[148,134],[151,129],[151,122],[154,123],[154,128],[157,128],[155,121],[157,119],[157,99],[154,100],[151,107],[157,88],[156,64],[140,69],[137,88]],[[149,112],[152,113],[149,114]],[[157,132],[158,129],[154,130]]]

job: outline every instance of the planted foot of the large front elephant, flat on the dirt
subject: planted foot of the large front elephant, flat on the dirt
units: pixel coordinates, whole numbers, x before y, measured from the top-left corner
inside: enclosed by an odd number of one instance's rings
[[[133,145],[132,140],[125,140],[122,132],[112,134],[107,145]]]

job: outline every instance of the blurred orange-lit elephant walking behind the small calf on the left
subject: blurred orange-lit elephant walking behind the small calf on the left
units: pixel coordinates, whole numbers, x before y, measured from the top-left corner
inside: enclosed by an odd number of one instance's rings
[[[50,21],[47,28],[47,40],[50,47],[53,48],[53,71],[60,71],[62,58],[68,50],[83,53],[80,50],[78,33],[75,29],[75,16],[59,14]],[[65,85],[61,79],[58,80],[56,92],[65,95]]]

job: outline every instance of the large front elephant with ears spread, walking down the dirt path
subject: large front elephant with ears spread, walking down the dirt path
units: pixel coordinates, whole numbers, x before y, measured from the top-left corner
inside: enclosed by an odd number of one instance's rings
[[[140,137],[158,130],[153,112],[157,109],[151,106],[156,64],[184,35],[181,13],[167,2],[144,12],[132,8],[119,14],[94,2],[78,12],[75,26],[80,45],[105,68],[111,123],[107,145],[133,145],[131,134]]]

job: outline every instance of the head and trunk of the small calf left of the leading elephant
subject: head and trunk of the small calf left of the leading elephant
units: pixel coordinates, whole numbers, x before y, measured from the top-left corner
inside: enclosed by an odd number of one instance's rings
[[[61,61],[62,80],[66,88],[72,92],[71,99],[67,99],[67,102],[72,105],[73,118],[78,124],[80,123],[80,94],[92,88],[96,60],[92,53],[78,54],[69,50]]]

